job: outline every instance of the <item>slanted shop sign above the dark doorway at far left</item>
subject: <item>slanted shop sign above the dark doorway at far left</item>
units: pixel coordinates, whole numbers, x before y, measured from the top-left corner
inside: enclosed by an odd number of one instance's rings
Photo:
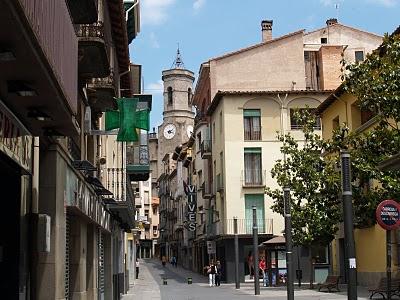
[[[0,101],[0,151],[32,172],[32,135]]]

